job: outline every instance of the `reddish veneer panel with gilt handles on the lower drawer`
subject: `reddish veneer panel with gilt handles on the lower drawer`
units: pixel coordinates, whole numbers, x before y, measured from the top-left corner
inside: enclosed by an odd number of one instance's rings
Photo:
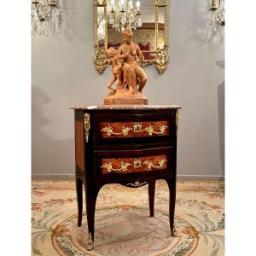
[[[102,173],[150,172],[166,169],[166,154],[139,158],[102,159]]]

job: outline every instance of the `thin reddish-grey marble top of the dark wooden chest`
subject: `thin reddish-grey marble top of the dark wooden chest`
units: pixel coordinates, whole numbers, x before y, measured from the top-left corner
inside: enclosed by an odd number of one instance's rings
[[[71,106],[69,109],[177,109],[181,108],[178,105],[98,105],[98,106],[88,106],[88,105],[76,105]]]

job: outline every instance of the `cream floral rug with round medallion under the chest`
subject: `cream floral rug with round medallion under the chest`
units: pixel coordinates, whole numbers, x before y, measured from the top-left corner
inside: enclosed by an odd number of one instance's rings
[[[73,182],[32,182],[32,255],[224,255],[224,183],[179,182],[171,236],[169,192],[157,181],[154,217],[148,186],[104,186],[97,197],[94,250],[86,250],[86,212],[77,227]]]

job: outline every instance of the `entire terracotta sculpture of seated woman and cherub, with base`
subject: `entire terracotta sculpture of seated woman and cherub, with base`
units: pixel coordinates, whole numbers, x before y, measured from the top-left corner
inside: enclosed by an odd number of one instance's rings
[[[131,41],[130,29],[126,28],[122,35],[124,44],[118,50],[113,47],[107,50],[112,78],[108,83],[109,94],[105,97],[104,104],[148,104],[148,99],[142,94],[147,75],[138,63],[138,60],[144,60],[143,53]],[[112,88],[114,83],[115,89]]]

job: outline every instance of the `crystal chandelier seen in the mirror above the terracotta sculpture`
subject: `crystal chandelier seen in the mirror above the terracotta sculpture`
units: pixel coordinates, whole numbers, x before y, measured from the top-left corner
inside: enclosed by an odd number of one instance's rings
[[[133,0],[111,0],[109,24],[115,31],[123,31],[125,27],[135,30],[137,27],[143,26],[140,6],[139,0],[136,2],[136,7]]]

